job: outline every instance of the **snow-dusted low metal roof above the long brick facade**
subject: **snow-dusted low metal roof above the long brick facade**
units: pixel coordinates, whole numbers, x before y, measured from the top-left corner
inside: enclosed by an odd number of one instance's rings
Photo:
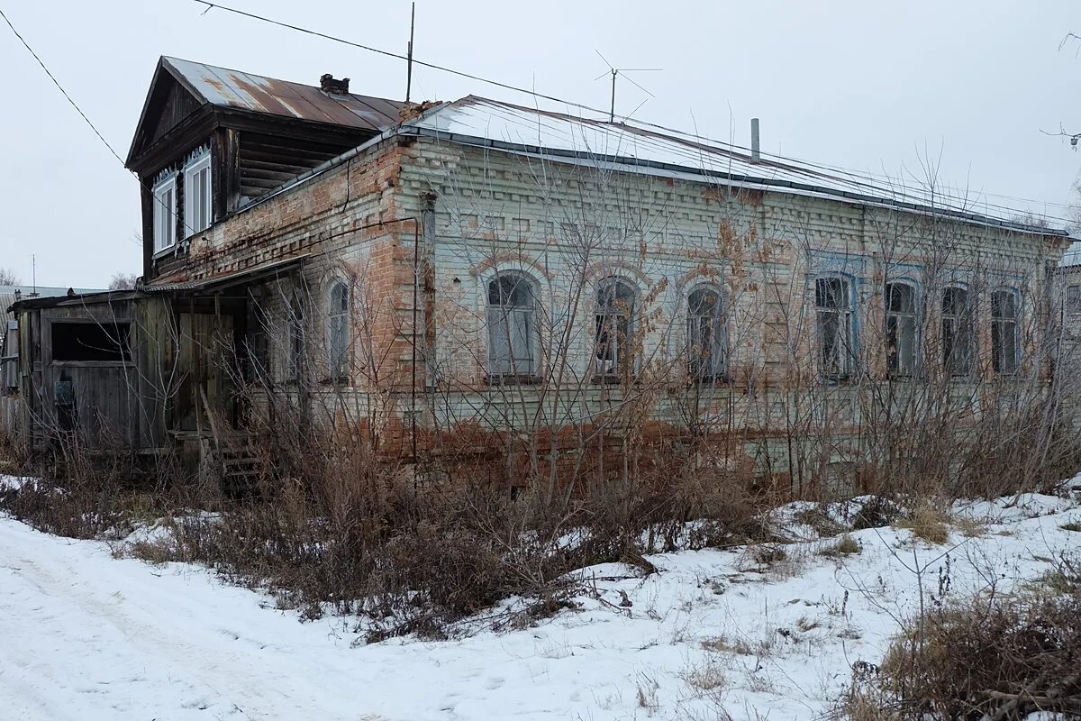
[[[410,128],[454,142],[477,143],[579,164],[685,176],[699,182],[705,176],[719,182],[734,181],[745,187],[820,193],[853,202],[881,201],[894,206],[934,208],[972,221],[1065,235],[1065,231],[1017,222],[1018,216],[1042,217],[1039,208],[991,202],[988,196],[978,191],[950,191],[939,185],[932,195],[924,185],[909,178],[882,179],[869,173],[833,170],[789,159],[763,157],[760,162],[751,162],[749,151],[744,148],[632,121],[610,123],[605,119],[468,96],[405,123],[402,132],[409,132]]]

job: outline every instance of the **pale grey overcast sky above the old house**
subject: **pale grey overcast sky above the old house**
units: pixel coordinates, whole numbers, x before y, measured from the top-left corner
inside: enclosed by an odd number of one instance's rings
[[[223,0],[283,22],[403,52],[403,0]],[[940,157],[971,192],[1031,199],[1064,215],[1081,153],[1040,131],[1081,133],[1078,0],[806,0],[536,3],[418,0],[416,57],[608,107],[606,66],[632,78],[617,112],[740,145],[760,117],[770,152],[893,176]],[[159,55],[353,92],[404,95],[400,61],[191,0],[31,2],[0,8],[121,157]],[[135,179],[0,25],[0,267],[41,285],[104,286],[141,272]],[[417,68],[414,99],[528,96]],[[1003,201],[999,195],[988,197]],[[1011,204],[1016,201],[1009,201]]]

